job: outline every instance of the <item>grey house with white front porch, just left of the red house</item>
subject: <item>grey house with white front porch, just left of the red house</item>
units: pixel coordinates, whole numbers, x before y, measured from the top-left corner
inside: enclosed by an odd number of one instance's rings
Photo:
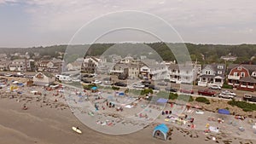
[[[210,64],[202,68],[199,76],[199,86],[210,86],[224,84],[225,65],[224,64]]]

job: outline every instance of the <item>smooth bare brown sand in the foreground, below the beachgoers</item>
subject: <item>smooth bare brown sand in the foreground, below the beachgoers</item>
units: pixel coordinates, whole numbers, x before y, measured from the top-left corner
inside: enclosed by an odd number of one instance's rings
[[[204,135],[201,131],[188,131],[172,128],[172,140],[161,141],[152,137],[154,124],[144,130],[130,135],[105,135],[90,130],[81,124],[72,112],[66,109],[53,108],[47,104],[32,101],[28,102],[28,110],[22,110],[23,103],[15,99],[0,99],[0,144],[198,144],[216,143],[211,135]],[[71,130],[72,126],[79,126],[82,135]],[[170,126],[172,127],[172,126]],[[234,137],[219,137],[218,143],[246,144],[256,141],[241,140]],[[232,141],[232,142],[229,142]]]

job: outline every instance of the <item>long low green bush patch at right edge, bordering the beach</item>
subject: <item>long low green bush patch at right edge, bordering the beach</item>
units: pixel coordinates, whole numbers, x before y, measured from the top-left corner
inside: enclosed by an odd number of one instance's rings
[[[240,107],[244,112],[253,112],[256,111],[256,104],[254,103],[248,103],[247,101],[228,101],[228,104],[232,107]]]

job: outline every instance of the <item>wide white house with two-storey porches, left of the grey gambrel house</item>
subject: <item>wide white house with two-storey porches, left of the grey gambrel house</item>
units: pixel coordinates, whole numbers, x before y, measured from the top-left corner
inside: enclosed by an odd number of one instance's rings
[[[169,79],[176,84],[192,84],[200,71],[199,65],[194,64],[170,64],[168,66]]]

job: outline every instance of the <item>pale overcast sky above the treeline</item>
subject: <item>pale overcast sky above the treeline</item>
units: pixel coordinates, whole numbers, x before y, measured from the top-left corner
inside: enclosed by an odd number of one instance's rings
[[[165,20],[186,43],[256,43],[255,5],[254,0],[0,0],[0,47],[67,44],[85,24],[124,10],[141,11]],[[102,27],[114,25],[106,19],[100,21],[98,24]],[[142,26],[143,22],[142,18],[129,21],[125,26],[134,26],[134,23]],[[154,25],[154,29],[169,32],[161,25]],[[129,39],[132,35],[137,36],[133,32],[116,32],[113,38],[102,38],[102,42],[111,43],[114,38],[113,42],[125,41],[125,38],[136,41]],[[140,38],[139,41],[152,40],[143,35]],[[170,38],[170,42],[176,42],[174,39]],[[84,37],[78,43],[90,41]]]

